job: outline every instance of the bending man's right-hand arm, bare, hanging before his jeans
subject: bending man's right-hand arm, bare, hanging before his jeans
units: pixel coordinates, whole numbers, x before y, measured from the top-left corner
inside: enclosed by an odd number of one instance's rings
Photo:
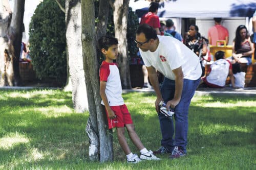
[[[183,89],[183,71],[181,66],[173,70],[175,75],[175,94],[174,99],[170,100],[166,104],[166,108],[175,108],[180,102],[182,89]]]

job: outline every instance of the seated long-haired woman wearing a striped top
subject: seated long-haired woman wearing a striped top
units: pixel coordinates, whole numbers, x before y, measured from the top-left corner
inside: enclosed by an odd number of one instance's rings
[[[251,64],[251,55],[254,53],[254,47],[248,35],[248,30],[244,25],[240,25],[236,31],[236,37],[233,41],[232,57],[228,60],[234,64],[247,63]]]

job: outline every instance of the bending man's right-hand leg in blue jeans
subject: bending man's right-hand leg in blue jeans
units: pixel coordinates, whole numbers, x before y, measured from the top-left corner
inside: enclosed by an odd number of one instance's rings
[[[187,145],[188,108],[199,82],[200,79],[184,79],[181,101],[175,107],[175,146],[181,147],[184,153]]]

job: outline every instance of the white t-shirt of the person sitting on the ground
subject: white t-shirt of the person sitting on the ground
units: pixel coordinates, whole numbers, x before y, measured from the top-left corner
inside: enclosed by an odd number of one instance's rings
[[[225,86],[229,69],[232,64],[226,59],[219,59],[210,65],[210,74],[206,77],[208,83]]]

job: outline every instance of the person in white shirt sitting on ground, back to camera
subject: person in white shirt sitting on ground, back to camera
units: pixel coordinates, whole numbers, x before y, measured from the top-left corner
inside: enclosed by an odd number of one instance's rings
[[[225,53],[218,51],[215,53],[215,58],[216,61],[211,64],[208,73],[202,78],[204,84],[208,87],[223,88],[229,76],[232,87],[235,87],[232,64],[225,59]]]

